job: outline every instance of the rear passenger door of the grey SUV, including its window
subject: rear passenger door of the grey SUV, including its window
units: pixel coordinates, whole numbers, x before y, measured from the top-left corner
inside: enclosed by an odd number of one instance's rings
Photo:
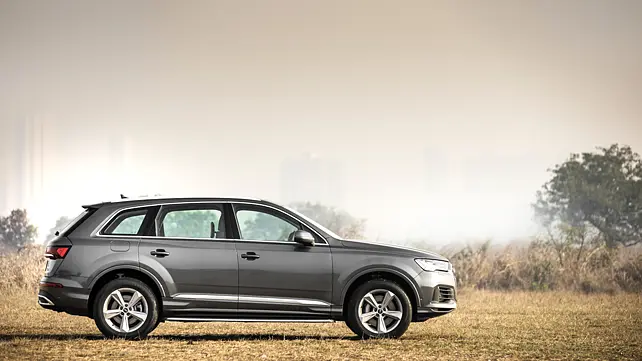
[[[141,237],[140,266],[167,283],[167,317],[231,317],[238,299],[234,240],[227,239],[230,206],[162,205],[152,235]]]

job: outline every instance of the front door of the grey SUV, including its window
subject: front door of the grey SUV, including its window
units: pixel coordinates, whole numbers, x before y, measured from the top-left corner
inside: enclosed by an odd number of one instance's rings
[[[328,318],[332,254],[325,240],[316,236],[312,247],[288,241],[304,225],[270,207],[234,204],[234,216],[240,238],[239,317]]]

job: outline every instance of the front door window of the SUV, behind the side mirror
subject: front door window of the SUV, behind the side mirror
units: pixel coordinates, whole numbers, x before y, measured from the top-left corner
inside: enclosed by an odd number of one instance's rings
[[[290,233],[299,229],[282,218],[256,210],[238,210],[236,219],[241,239],[247,240],[287,241]]]

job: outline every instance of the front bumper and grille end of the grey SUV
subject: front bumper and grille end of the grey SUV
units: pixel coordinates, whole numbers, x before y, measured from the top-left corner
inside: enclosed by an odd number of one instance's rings
[[[415,277],[420,303],[413,321],[422,322],[457,308],[457,281],[452,272],[423,271]]]

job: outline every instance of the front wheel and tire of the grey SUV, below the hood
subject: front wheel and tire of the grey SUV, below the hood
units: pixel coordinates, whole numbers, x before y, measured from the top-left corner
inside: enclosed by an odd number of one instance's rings
[[[384,302],[387,303],[384,305]],[[362,322],[360,315],[367,320]],[[398,284],[375,279],[352,293],[346,316],[346,325],[363,339],[398,338],[410,326],[412,304]]]

